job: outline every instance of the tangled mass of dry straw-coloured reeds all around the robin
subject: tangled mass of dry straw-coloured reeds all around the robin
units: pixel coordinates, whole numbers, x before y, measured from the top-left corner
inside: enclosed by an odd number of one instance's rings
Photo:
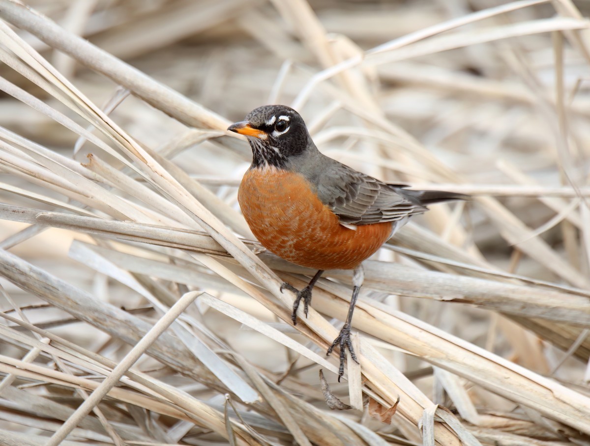
[[[588,443],[585,5],[50,3],[0,0],[0,443]],[[237,208],[264,98],[475,196],[365,262],[346,384],[350,272],[293,326]]]

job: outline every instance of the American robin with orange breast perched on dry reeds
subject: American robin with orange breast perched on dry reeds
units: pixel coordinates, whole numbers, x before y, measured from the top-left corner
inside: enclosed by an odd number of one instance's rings
[[[350,323],[363,282],[360,266],[409,218],[428,204],[464,199],[444,191],[408,190],[383,183],[317,150],[303,118],[285,105],[264,105],[228,130],[244,135],[253,160],[238,190],[248,226],[266,249],[297,265],[317,269],[305,288],[289,283],[281,292],[296,293],[291,319],[297,323],[301,300],[307,316],[312,289],[328,269],[352,269],[353,293],[346,321],[327,355],[340,347],[339,378],[345,348],[356,362]]]

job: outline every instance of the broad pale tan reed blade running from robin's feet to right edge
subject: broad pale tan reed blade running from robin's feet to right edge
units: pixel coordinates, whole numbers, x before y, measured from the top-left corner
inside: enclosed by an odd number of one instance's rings
[[[358,305],[359,309],[365,310],[356,315],[359,329],[485,388],[493,389],[497,394],[535,407],[543,414],[562,422],[575,422],[579,430],[590,432],[587,418],[590,398],[569,391],[408,315],[391,312],[375,302],[366,307],[364,303]],[[343,317],[345,312],[344,307],[333,305],[333,300],[324,293],[317,293],[316,308],[339,317]],[[458,358],[463,358],[461,366],[457,366],[460,364]]]

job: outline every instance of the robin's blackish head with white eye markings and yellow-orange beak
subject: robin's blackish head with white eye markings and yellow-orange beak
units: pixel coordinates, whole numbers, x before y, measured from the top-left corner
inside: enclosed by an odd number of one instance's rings
[[[263,105],[254,108],[244,121],[230,125],[248,138],[252,147],[253,167],[286,167],[290,157],[300,156],[314,148],[303,118],[286,105]]]

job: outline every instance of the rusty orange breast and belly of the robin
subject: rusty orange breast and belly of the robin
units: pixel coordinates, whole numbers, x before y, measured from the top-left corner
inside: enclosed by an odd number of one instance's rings
[[[314,269],[353,269],[389,238],[391,223],[342,226],[298,173],[250,169],[238,201],[250,229],[270,252]]]

